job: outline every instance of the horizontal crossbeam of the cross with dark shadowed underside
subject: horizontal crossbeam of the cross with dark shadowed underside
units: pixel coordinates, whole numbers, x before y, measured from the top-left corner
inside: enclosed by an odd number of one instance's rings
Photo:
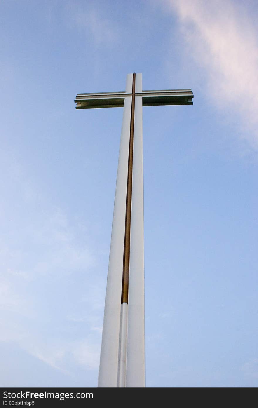
[[[123,107],[124,98],[131,95],[125,92],[78,93],[75,109],[119,108]],[[135,93],[135,97],[138,96],[142,97],[143,106],[192,105],[194,97],[191,89],[142,91]]]

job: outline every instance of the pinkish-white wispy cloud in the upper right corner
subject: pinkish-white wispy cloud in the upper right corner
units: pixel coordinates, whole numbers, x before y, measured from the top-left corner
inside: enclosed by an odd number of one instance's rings
[[[179,17],[209,100],[239,117],[242,137],[258,149],[258,30],[247,9],[231,0],[163,4]]]

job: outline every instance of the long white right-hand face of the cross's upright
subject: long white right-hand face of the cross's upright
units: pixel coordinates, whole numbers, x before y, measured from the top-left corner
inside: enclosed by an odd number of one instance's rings
[[[141,74],[136,74],[141,92]],[[126,387],[145,387],[142,97],[135,97]]]

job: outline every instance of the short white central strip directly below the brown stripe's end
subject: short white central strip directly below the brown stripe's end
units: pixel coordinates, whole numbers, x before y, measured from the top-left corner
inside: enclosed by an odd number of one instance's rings
[[[121,304],[117,387],[126,386],[128,304]]]

